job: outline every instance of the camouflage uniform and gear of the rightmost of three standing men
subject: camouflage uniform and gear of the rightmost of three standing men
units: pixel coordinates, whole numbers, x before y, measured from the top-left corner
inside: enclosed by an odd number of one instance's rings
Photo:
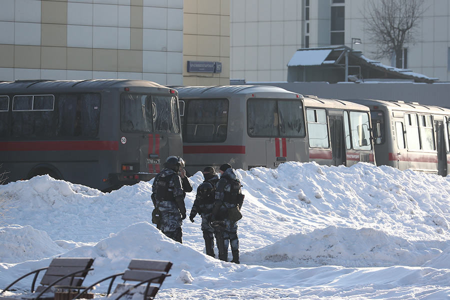
[[[233,259],[231,262],[239,263],[239,240],[237,238],[237,222],[231,223],[228,216],[228,208],[242,206],[242,201],[236,200],[236,193],[241,194],[240,181],[237,179],[234,170],[227,168],[220,176],[216,184],[215,202],[213,214],[215,218],[222,218],[225,221],[224,241],[226,253],[223,253],[221,260],[227,260],[228,240],[231,246]],[[220,256],[220,255],[219,255]]]

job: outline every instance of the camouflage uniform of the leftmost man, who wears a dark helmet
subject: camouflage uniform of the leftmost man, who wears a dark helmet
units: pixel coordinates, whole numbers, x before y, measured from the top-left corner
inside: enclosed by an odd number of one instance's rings
[[[167,180],[168,182],[166,182]],[[157,174],[152,185],[153,204],[154,207],[158,207],[161,217],[157,228],[178,242],[182,242],[181,224],[182,218],[186,215],[184,205],[186,193],[182,186],[178,173],[169,168],[164,168]],[[160,189],[159,193],[158,189]]]

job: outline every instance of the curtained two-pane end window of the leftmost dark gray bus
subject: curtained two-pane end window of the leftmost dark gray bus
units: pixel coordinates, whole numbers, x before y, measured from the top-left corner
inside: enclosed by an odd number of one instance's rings
[[[122,93],[120,127],[122,131],[178,133],[176,98]]]

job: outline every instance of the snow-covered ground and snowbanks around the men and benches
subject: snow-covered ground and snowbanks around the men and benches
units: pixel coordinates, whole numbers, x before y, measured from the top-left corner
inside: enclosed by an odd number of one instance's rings
[[[184,220],[183,244],[161,234],[150,222],[152,181],[111,193],[47,175],[0,186],[13,206],[0,227],[0,288],[62,256],[95,258],[86,284],[131,258],[170,260],[157,299],[450,298],[448,176],[368,163],[236,173],[241,264],[204,254],[199,216]],[[203,178],[189,179],[195,191]]]

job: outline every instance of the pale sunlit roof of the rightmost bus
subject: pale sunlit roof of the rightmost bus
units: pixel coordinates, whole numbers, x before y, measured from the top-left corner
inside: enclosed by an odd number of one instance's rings
[[[363,105],[378,105],[378,106],[382,105],[393,110],[409,110],[409,111],[422,111],[429,113],[450,114],[449,108],[420,104],[418,102],[389,101],[378,99],[347,99],[347,101],[360,103]]]

